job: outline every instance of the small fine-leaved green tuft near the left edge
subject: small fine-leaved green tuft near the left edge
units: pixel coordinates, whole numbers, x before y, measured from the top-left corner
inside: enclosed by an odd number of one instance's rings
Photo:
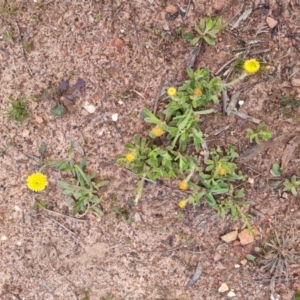
[[[7,109],[6,114],[20,125],[23,124],[26,118],[30,117],[30,111],[27,107],[27,99],[20,96],[16,100],[9,98],[10,108]]]

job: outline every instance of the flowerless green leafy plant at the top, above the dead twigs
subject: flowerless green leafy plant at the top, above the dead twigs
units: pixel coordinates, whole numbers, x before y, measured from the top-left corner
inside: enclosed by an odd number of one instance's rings
[[[209,45],[215,45],[215,39],[220,30],[224,29],[226,25],[222,24],[222,18],[206,18],[201,19],[199,23],[195,23],[195,31],[199,36],[193,38],[190,43],[196,45],[203,39]]]

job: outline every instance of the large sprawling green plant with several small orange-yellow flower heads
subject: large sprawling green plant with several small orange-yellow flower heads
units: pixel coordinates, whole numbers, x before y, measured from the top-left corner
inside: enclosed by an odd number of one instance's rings
[[[211,77],[208,69],[188,68],[187,73],[189,79],[178,89],[168,88],[170,102],[156,115],[143,109],[141,117],[154,126],[149,132],[150,139],[134,136],[133,144],[125,144],[128,152],[119,156],[118,165],[126,164],[140,178],[136,203],[146,178],[154,182],[159,178],[176,178],[180,180],[179,189],[190,190],[189,196],[179,201],[180,208],[197,205],[204,199],[219,216],[229,211],[232,219],[240,217],[244,227],[251,230],[250,215],[242,209],[249,202],[242,200],[244,190],[235,188],[235,183],[245,179],[234,162],[239,156],[235,147],[211,149],[203,161],[204,168],[192,154],[202,149],[207,137],[199,126],[201,117],[215,112],[209,106],[219,102],[218,95],[226,86],[219,77]],[[163,146],[158,145],[157,139],[164,140]]]

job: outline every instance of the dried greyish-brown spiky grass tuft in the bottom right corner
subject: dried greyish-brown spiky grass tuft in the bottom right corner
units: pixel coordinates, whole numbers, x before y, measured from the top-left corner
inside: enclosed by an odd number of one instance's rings
[[[262,269],[271,274],[270,289],[274,292],[277,280],[288,282],[291,264],[300,262],[299,253],[296,252],[296,239],[294,231],[279,235],[276,231],[270,240],[263,246],[263,257],[260,263]]]

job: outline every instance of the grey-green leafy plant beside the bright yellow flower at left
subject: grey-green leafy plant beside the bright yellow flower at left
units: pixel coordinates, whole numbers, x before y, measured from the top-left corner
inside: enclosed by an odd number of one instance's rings
[[[91,175],[85,172],[87,157],[84,156],[80,164],[75,163],[72,158],[73,145],[68,151],[68,159],[61,159],[56,162],[48,162],[47,166],[53,167],[59,172],[70,172],[72,178],[68,181],[59,181],[58,185],[63,189],[63,194],[68,196],[68,202],[74,203],[73,215],[83,217],[90,209],[97,217],[103,215],[99,207],[103,196],[98,195],[98,189],[106,186],[109,181],[94,181],[96,173]]]

